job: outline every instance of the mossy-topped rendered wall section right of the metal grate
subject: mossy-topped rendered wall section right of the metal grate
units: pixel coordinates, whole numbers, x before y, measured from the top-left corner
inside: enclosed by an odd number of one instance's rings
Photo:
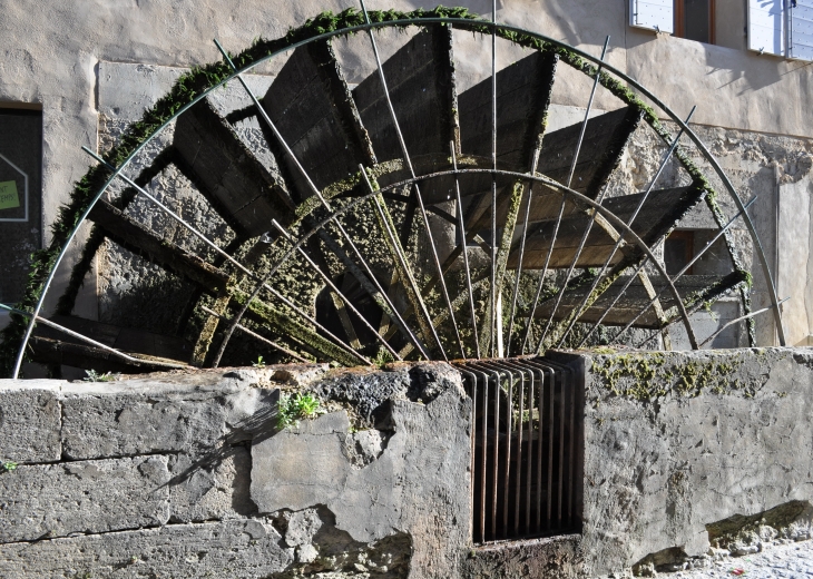
[[[709,536],[734,555],[810,538],[813,352],[570,360],[586,373],[587,576],[702,566]]]

